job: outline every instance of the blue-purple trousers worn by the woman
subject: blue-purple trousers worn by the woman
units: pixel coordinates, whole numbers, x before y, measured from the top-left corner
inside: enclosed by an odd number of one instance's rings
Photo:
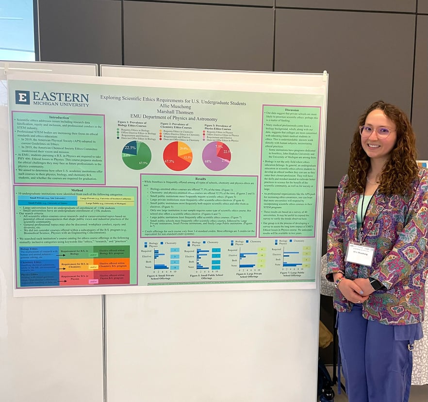
[[[338,313],[337,327],[349,402],[408,402],[412,340],[397,336],[395,325],[363,318],[358,304]]]

